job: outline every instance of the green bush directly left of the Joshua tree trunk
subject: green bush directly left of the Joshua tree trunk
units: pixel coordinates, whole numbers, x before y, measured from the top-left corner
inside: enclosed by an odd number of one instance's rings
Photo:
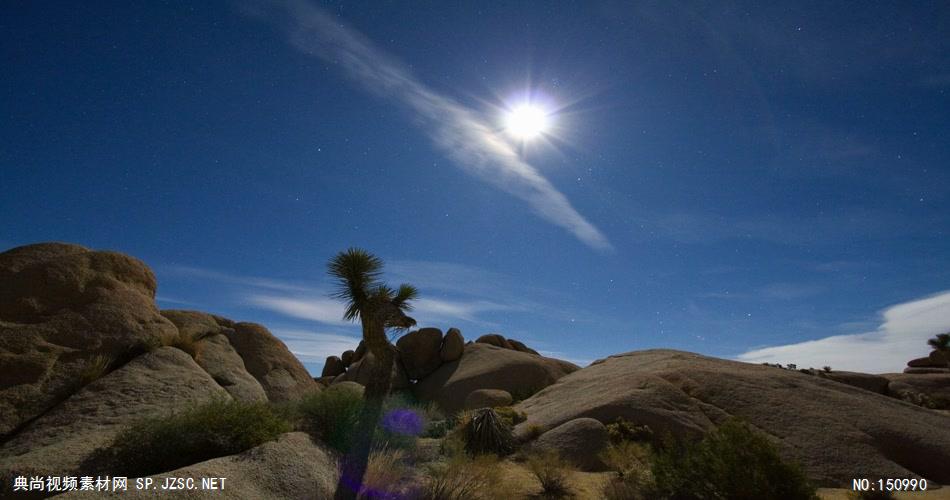
[[[326,389],[300,400],[301,426],[331,448],[346,452],[363,409],[363,396],[355,391]]]

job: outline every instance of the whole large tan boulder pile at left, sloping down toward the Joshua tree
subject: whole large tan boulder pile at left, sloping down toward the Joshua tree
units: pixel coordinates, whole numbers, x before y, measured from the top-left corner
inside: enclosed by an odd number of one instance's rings
[[[127,424],[216,398],[320,386],[266,328],[159,311],[138,259],[43,243],[0,253],[0,477],[76,473]]]

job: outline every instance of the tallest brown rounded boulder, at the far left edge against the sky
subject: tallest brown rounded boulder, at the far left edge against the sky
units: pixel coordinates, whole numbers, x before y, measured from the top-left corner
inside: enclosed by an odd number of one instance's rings
[[[126,360],[178,329],[141,261],[79,245],[0,253],[0,436],[79,389],[98,356]]]

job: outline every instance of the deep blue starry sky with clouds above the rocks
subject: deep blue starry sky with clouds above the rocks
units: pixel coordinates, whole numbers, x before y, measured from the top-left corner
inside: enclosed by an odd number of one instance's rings
[[[421,324],[581,362],[898,370],[950,329],[946,3],[5,11],[0,247],[130,253],[311,369],[358,335],[324,276],[352,245]],[[521,144],[525,96],[554,127]]]

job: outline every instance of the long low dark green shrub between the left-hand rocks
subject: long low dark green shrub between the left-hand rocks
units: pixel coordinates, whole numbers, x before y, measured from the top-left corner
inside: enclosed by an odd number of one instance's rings
[[[104,451],[104,470],[147,476],[240,453],[289,430],[267,404],[215,400],[125,428]]]

